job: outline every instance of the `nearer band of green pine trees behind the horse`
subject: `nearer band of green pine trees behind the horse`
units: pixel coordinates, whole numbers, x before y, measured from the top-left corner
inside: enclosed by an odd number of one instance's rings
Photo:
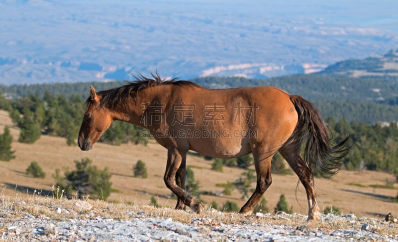
[[[67,98],[61,94],[52,96],[46,91],[43,98],[37,94],[29,94],[16,101],[10,101],[0,94],[0,108],[9,111],[13,123],[20,128],[19,142],[34,143],[40,135],[52,135],[64,137],[68,145],[74,145],[85,111],[85,103],[79,95]],[[335,137],[346,137],[351,134],[348,144],[351,149],[343,159],[346,169],[382,170],[398,174],[396,122],[369,124],[333,117],[328,118],[326,122]],[[9,131],[4,130],[3,135],[5,134],[9,136]],[[149,136],[142,134],[141,127],[116,121],[102,135],[99,142],[112,145],[146,144]],[[2,143],[9,142],[7,137],[0,138]],[[0,144],[1,147],[9,149],[7,145]],[[12,153],[9,157],[12,158]],[[278,155],[275,159],[281,160]],[[214,160],[215,169],[222,165],[247,168],[251,164],[252,160],[247,156],[239,159]],[[285,167],[274,167],[274,169],[285,170]]]

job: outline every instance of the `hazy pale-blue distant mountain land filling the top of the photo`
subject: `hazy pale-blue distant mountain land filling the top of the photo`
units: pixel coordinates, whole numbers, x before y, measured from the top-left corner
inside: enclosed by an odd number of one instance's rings
[[[181,79],[319,72],[396,48],[397,5],[0,0],[0,84],[132,80],[156,70]]]

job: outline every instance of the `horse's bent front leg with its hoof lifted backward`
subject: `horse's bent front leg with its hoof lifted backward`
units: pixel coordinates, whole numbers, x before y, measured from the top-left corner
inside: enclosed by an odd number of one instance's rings
[[[176,183],[176,174],[179,170],[183,157],[186,156],[186,152],[178,151],[177,148],[170,148],[167,153],[167,165],[166,172],[164,175],[164,181],[166,186],[178,197],[177,206],[180,203],[183,203],[189,206],[192,210],[197,213],[203,212],[203,204],[197,201],[194,197],[188,194],[188,192],[183,188],[177,185]],[[180,170],[180,172],[183,169]],[[185,169],[184,169],[185,170]],[[180,180],[181,183],[181,180]],[[177,207],[176,207],[177,208]]]

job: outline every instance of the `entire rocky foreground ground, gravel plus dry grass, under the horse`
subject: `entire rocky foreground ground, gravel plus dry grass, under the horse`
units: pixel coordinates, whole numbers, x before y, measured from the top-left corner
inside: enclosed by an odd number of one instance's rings
[[[29,202],[28,202],[29,203]],[[65,204],[65,203],[64,203]],[[397,219],[357,218],[354,214],[306,216],[257,213],[242,216],[208,210],[203,216],[170,208],[133,207],[123,216],[99,213],[86,202],[73,206],[27,202],[3,203],[3,241],[398,241]],[[58,206],[58,207],[56,207]],[[111,205],[101,205],[109,210]],[[43,208],[44,207],[44,208]],[[149,207],[149,206],[147,206]],[[166,211],[166,212],[165,212]],[[185,218],[182,218],[185,217]],[[187,219],[188,218],[188,219]]]

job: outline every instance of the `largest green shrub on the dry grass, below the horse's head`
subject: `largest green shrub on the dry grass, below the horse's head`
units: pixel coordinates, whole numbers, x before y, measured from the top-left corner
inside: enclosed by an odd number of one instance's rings
[[[97,166],[91,165],[91,162],[88,158],[75,161],[76,170],[65,170],[64,177],[60,175],[59,169],[56,169],[56,187],[63,190],[67,196],[77,194],[77,197],[82,199],[90,195],[90,198],[105,200],[111,191],[111,174],[108,173],[107,167],[99,170]],[[61,194],[57,193],[57,196]]]

